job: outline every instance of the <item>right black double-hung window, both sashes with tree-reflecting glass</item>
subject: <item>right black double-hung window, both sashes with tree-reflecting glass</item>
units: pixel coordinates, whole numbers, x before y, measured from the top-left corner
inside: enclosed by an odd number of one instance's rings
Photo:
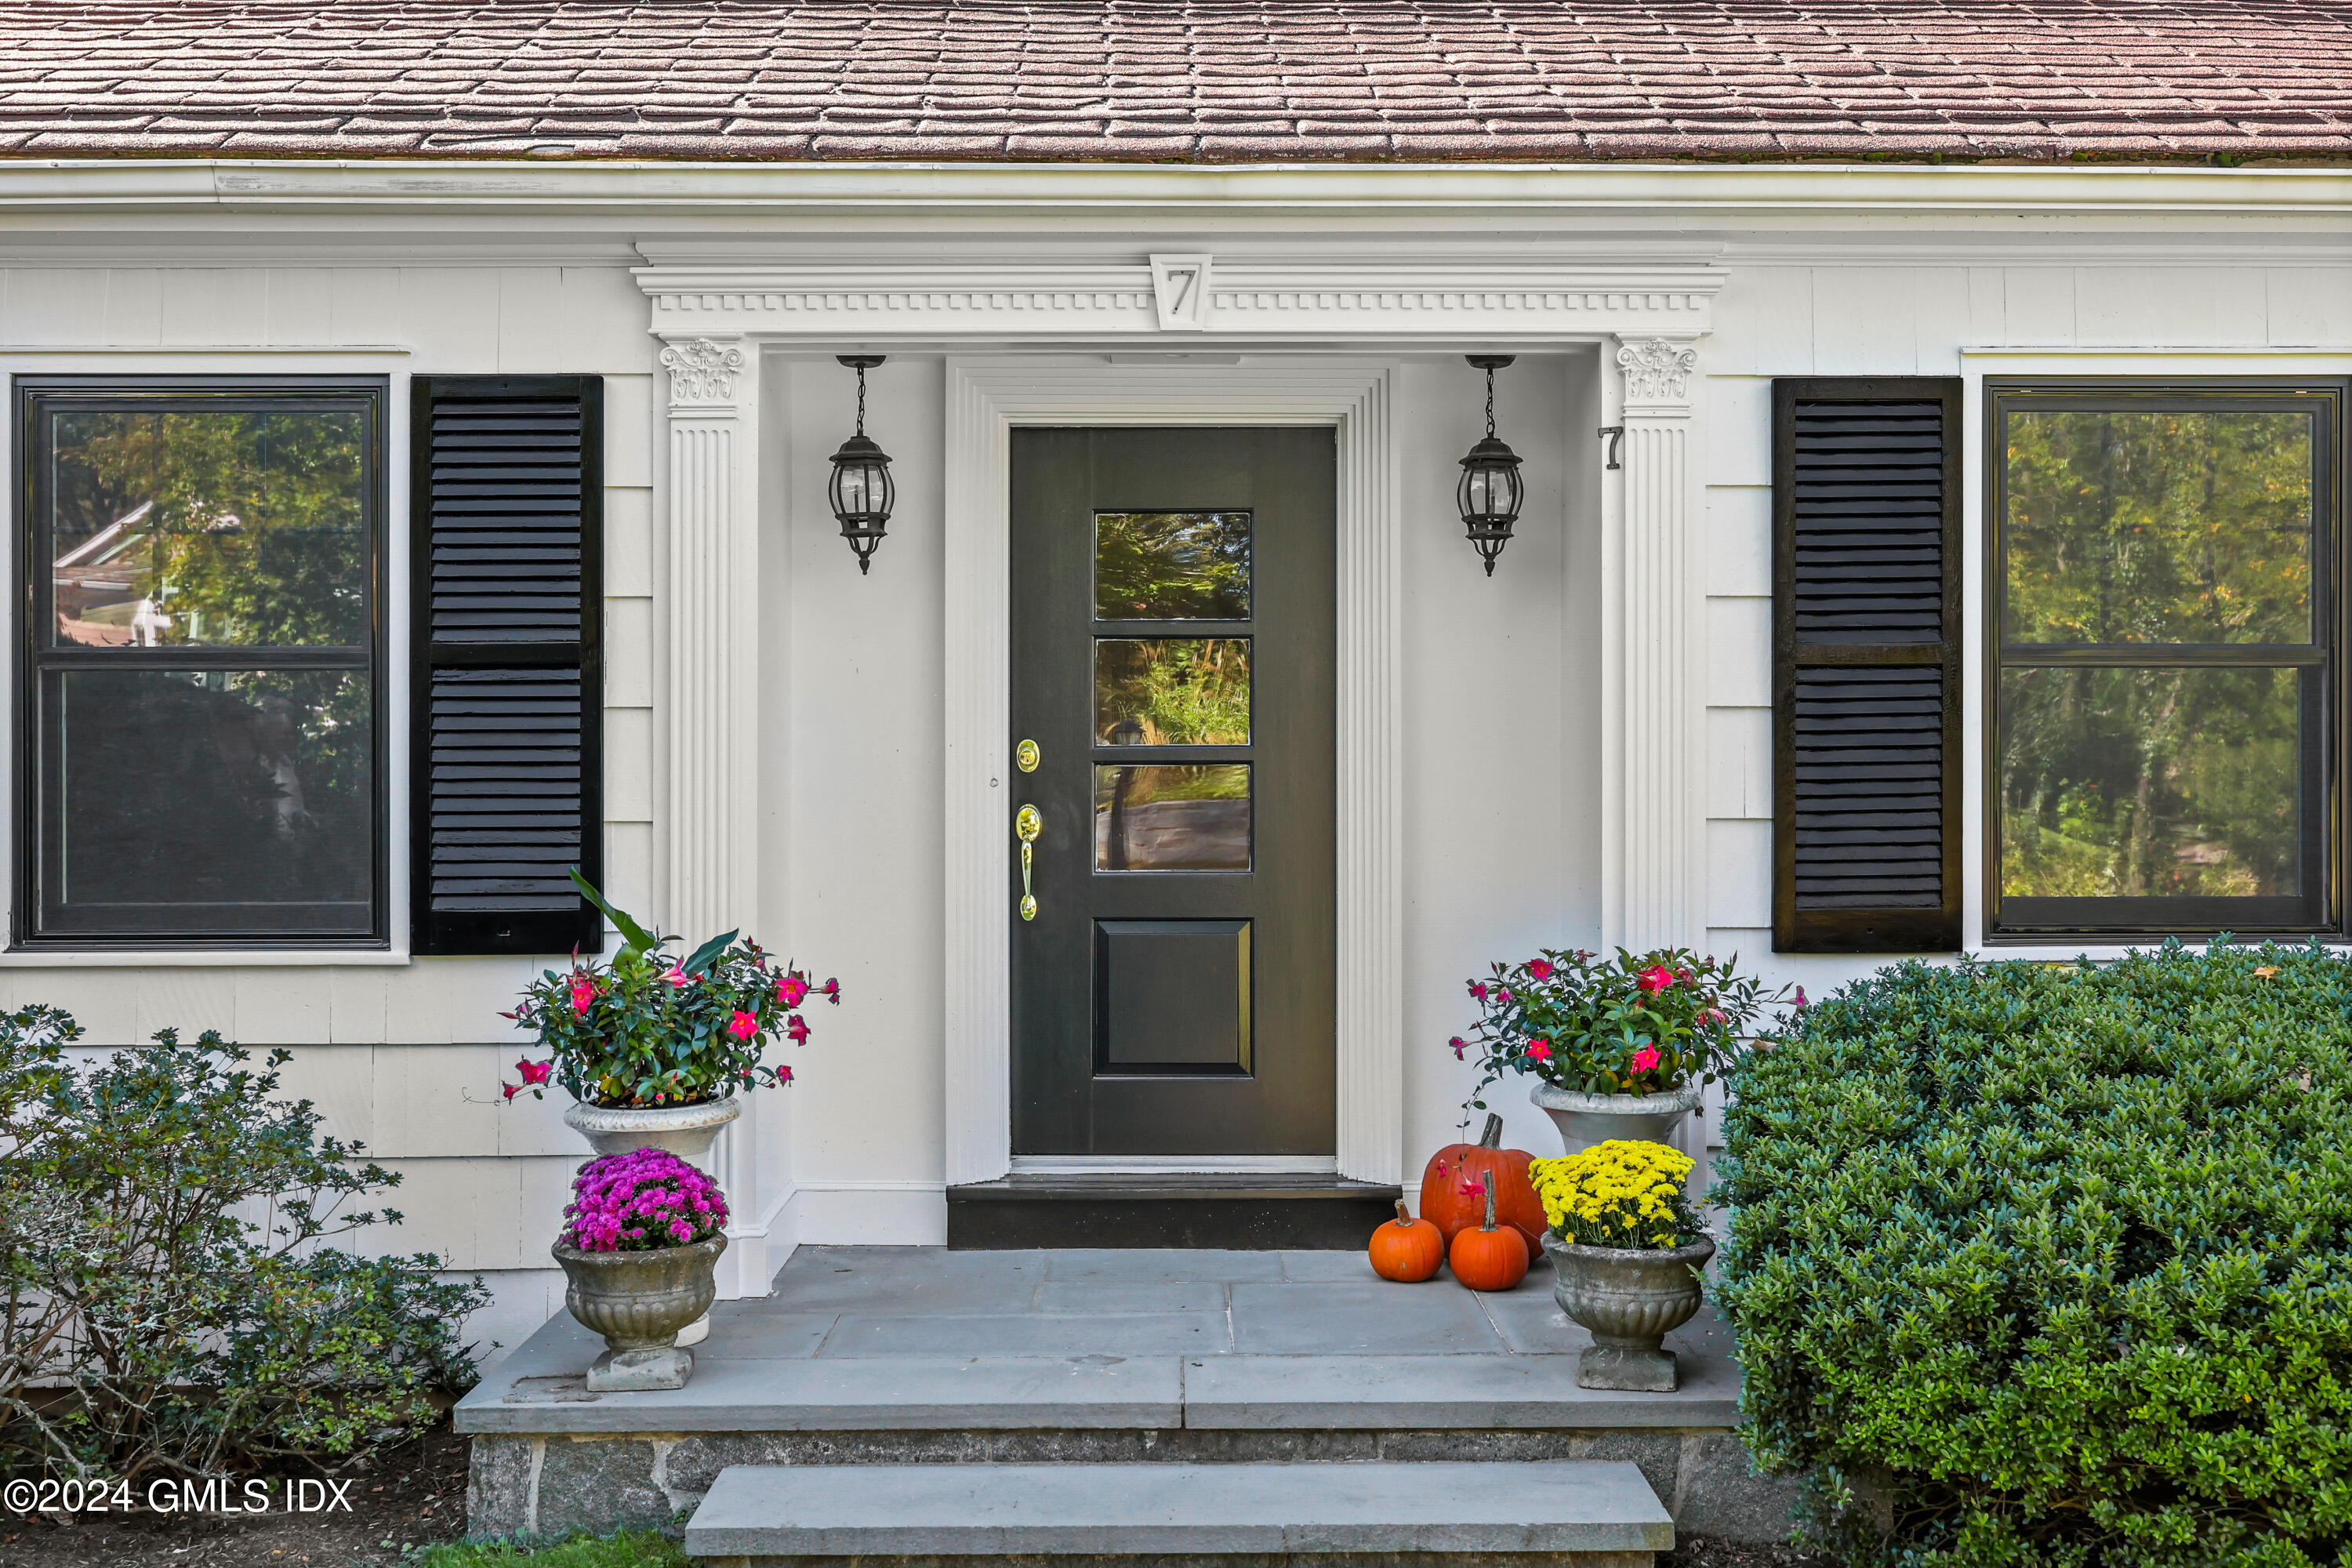
[[[2159,900],[2004,910],[2324,910],[2326,430],[2277,395],[2002,395],[1999,896]]]

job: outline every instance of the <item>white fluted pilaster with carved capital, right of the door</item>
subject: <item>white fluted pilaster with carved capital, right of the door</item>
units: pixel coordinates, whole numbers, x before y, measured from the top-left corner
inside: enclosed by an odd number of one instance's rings
[[[1606,510],[1602,940],[1705,945],[1705,658],[1696,334],[1618,336],[1623,470]]]

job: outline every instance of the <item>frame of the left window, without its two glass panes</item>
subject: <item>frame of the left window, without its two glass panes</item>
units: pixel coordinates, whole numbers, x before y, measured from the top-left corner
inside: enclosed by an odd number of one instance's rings
[[[14,378],[14,461],[9,465],[9,501],[14,527],[9,527],[9,571],[16,602],[16,637],[12,649],[9,691],[16,701],[16,726],[12,738],[14,799],[9,818],[14,825],[9,952],[386,952],[390,950],[390,837],[393,837],[393,755],[390,755],[390,534],[388,517],[388,461],[390,444],[390,376],[369,374],[315,374],[315,376],[242,376],[242,374],[38,374]],[[139,409],[139,407],[186,407],[198,400],[221,404],[261,402],[285,411],[339,409],[358,404],[362,414],[362,482],[360,522],[365,531],[365,637],[358,644],[320,644],[315,649],[273,649],[259,654],[240,646],[155,649],[155,658],[139,658],[129,649],[56,649],[47,644],[54,621],[54,583],[40,562],[54,520],[47,510],[42,480],[42,456],[49,440],[42,435],[45,421],[56,409]],[[125,658],[125,654],[132,654]],[[158,670],[221,668],[221,670],[360,670],[369,677],[369,929],[367,933],[285,933],[247,931],[202,936],[183,931],[42,931],[42,870],[52,863],[52,832],[42,804],[54,795],[49,710],[42,703],[42,682],[73,668],[136,668]]]

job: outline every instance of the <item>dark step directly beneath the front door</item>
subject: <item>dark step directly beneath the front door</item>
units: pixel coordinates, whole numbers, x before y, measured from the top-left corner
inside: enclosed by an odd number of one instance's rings
[[[1007,1175],[948,1187],[948,1248],[1352,1251],[1399,1197],[1341,1175]]]

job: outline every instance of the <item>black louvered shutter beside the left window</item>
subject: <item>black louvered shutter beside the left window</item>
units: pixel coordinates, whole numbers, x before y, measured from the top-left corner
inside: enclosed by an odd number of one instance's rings
[[[416,376],[416,952],[595,952],[604,846],[604,381]]]

